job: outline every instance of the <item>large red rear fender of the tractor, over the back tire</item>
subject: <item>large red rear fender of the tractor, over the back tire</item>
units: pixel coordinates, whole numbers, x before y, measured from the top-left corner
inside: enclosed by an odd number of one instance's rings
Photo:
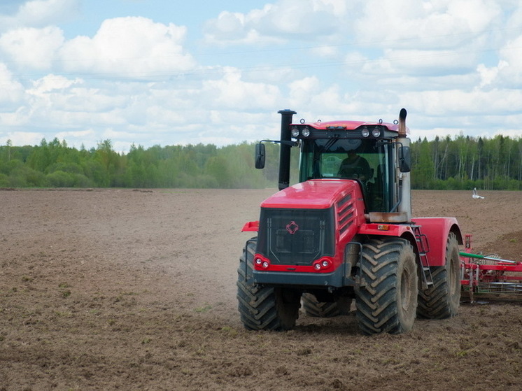
[[[446,244],[448,235],[453,232],[459,244],[463,244],[463,234],[456,218],[414,218],[411,219],[421,227],[421,233],[428,238],[430,250],[426,254],[430,266],[446,264]]]

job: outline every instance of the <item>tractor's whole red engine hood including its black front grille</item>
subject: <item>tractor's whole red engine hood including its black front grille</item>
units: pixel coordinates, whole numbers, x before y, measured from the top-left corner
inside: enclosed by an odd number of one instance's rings
[[[256,257],[267,266],[256,270],[315,273],[313,265],[324,257],[332,269],[321,271],[337,269],[346,244],[365,222],[364,208],[356,180],[307,180],[274,194],[261,204]]]

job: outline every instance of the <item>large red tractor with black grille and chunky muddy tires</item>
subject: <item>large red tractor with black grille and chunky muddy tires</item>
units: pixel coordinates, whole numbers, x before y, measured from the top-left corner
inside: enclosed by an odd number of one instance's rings
[[[416,316],[449,318],[460,303],[463,243],[455,218],[412,218],[406,110],[395,123],[292,123],[281,114],[279,192],[243,231],[239,313],[247,329],[295,327],[346,314],[365,334],[408,332]],[[256,145],[255,165],[265,148]],[[300,150],[290,186],[290,148]]]

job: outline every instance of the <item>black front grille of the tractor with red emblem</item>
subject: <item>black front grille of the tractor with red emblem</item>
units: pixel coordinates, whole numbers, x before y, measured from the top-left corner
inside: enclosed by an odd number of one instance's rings
[[[299,266],[333,256],[332,209],[262,209],[257,252],[272,264]]]

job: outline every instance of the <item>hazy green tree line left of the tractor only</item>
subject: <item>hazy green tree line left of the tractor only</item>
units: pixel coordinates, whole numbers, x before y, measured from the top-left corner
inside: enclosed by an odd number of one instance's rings
[[[115,152],[110,140],[90,150],[69,147],[57,138],[22,147],[8,141],[0,146],[0,187],[273,186],[278,148],[267,145],[267,169],[256,170],[253,145],[132,145],[122,154]]]

